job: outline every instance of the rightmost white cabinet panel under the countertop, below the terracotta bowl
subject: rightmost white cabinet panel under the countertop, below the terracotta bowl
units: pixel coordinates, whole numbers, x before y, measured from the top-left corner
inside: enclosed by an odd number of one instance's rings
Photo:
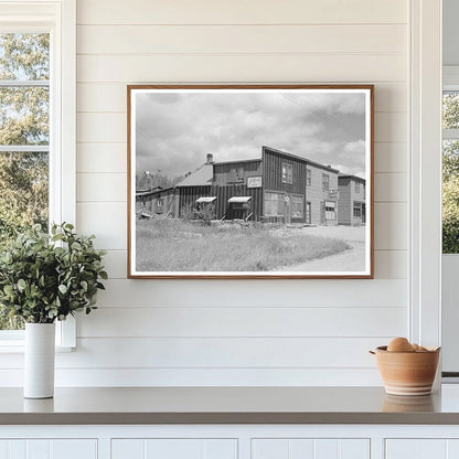
[[[386,459],[459,458],[458,439],[387,439]]]

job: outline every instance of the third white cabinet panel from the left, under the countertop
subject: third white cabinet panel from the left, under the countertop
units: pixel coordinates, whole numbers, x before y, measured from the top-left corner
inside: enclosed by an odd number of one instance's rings
[[[370,459],[370,440],[254,439],[252,459]]]

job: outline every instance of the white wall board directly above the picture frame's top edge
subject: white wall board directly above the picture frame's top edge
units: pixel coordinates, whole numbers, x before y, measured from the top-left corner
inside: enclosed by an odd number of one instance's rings
[[[79,55],[77,79],[93,83],[404,82],[403,54]]]

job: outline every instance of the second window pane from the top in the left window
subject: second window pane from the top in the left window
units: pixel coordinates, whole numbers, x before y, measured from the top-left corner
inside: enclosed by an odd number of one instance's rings
[[[0,87],[0,145],[47,145],[50,90],[46,87]]]

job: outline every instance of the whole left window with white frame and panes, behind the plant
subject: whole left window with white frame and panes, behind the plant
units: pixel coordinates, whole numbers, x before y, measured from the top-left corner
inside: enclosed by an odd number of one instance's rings
[[[14,226],[75,222],[74,10],[0,0],[0,245]],[[0,345],[22,340],[17,325],[0,324]],[[57,333],[74,345],[72,319]]]

